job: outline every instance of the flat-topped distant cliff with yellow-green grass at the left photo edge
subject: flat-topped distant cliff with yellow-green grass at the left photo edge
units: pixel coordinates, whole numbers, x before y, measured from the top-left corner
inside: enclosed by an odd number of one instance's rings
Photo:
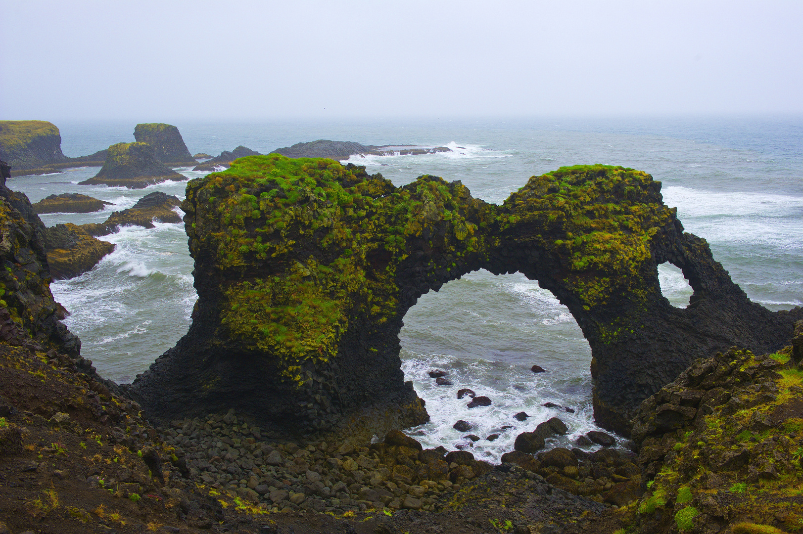
[[[0,120],[0,160],[11,166],[11,175],[53,173],[49,165],[65,163],[61,134],[47,120]]]

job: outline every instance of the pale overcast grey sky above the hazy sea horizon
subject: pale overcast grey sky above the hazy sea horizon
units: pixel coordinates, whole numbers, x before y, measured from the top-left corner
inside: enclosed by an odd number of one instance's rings
[[[803,2],[0,0],[2,119],[803,112]]]

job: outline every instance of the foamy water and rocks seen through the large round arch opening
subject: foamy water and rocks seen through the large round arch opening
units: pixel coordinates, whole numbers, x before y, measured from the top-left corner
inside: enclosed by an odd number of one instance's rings
[[[464,448],[499,463],[518,434],[548,418],[560,418],[569,434],[549,439],[547,448],[574,446],[578,435],[599,430],[593,422],[589,343],[569,308],[536,280],[473,271],[421,296],[404,324],[402,370],[430,414],[429,422],[407,433],[423,446]],[[532,365],[545,372],[533,373]],[[429,375],[435,369],[445,371],[451,385],[438,385]],[[463,388],[490,397],[491,406],[468,408],[471,398],[457,397]],[[574,411],[542,406],[547,402]],[[514,418],[522,411],[530,417]],[[472,428],[454,429],[459,420]],[[498,437],[488,440],[493,434]]]

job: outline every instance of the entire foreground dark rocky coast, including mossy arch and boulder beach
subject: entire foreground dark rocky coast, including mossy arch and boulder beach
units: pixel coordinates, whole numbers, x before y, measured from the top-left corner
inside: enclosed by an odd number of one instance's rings
[[[561,168],[496,206],[439,177],[397,188],[329,159],[232,161],[182,204],[190,331],[132,385],[80,357],[49,291],[47,229],[24,195],[0,197],[10,532],[803,526],[803,311],[750,302],[649,174]],[[688,308],[661,295],[665,261],[695,290]],[[399,369],[402,318],[479,268],[521,271],[569,307],[597,422],[630,450],[543,450],[568,430],[551,418],[493,466],[399,431],[428,417]]]

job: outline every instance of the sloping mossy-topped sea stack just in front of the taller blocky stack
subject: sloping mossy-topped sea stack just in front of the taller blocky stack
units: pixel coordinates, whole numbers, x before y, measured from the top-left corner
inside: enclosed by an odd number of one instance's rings
[[[80,185],[116,185],[143,189],[162,181],[181,181],[185,178],[157,160],[153,147],[147,143],[117,143],[108,147],[108,157],[100,173],[80,182]]]

